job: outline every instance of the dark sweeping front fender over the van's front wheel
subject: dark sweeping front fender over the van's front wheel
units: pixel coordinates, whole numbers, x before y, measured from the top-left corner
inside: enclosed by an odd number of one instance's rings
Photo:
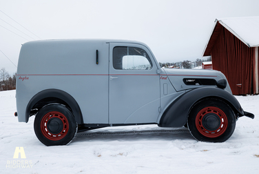
[[[162,117],[158,126],[161,127],[182,127],[186,124],[187,117],[198,101],[205,98],[216,98],[225,101],[234,110],[234,113],[244,115],[244,111],[238,100],[226,90],[217,87],[202,87],[189,90],[170,104]]]

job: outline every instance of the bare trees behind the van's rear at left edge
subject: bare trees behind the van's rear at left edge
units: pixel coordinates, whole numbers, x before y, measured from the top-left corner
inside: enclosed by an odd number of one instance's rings
[[[1,68],[0,70],[0,91],[1,90],[14,90],[16,89],[16,76],[17,73],[14,75],[10,75],[5,68]]]

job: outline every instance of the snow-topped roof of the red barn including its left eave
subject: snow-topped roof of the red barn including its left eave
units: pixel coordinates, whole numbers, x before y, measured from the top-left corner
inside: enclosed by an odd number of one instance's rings
[[[211,55],[211,48],[213,48],[222,27],[229,30],[248,47],[259,46],[259,17],[216,19],[209,41],[207,41],[203,51],[203,56]]]

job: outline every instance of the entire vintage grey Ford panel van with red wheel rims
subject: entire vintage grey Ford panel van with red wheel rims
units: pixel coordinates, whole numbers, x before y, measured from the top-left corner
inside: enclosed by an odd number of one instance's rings
[[[225,142],[242,110],[216,70],[160,68],[138,41],[68,39],[24,43],[17,68],[19,122],[35,115],[46,146],[107,126],[186,126],[195,139]]]

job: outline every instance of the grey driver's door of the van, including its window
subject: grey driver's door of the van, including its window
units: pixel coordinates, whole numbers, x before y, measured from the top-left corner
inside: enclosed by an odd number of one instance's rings
[[[156,123],[160,82],[145,46],[110,43],[109,123]]]

